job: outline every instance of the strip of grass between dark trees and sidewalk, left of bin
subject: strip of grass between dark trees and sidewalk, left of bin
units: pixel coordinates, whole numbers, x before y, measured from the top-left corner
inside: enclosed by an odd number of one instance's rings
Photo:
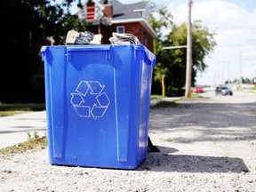
[[[43,111],[44,104],[0,104],[0,116],[13,116],[30,111]]]

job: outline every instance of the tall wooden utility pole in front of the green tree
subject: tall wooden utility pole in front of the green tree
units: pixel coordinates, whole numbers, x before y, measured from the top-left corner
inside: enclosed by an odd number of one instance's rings
[[[186,63],[186,91],[185,97],[190,97],[191,76],[192,76],[192,32],[191,32],[191,6],[192,0],[188,0],[188,29],[187,29],[187,63]]]

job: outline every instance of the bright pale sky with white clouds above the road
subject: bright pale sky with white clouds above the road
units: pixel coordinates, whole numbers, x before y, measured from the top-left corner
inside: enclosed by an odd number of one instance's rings
[[[119,0],[132,4],[140,0]],[[176,24],[188,20],[188,0],[151,0],[164,5]],[[214,32],[217,45],[205,57],[208,66],[196,77],[196,84],[224,84],[256,77],[256,0],[193,0],[191,20],[202,20]]]

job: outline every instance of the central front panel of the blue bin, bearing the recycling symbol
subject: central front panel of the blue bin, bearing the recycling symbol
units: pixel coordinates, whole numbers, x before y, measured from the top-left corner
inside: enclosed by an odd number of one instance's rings
[[[71,52],[68,60],[68,156],[70,164],[116,164],[113,61],[102,50]]]

